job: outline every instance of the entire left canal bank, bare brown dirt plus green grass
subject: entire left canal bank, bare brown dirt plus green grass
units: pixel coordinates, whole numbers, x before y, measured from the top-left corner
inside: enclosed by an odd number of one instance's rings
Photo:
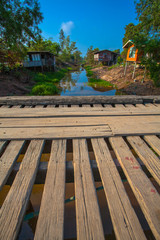
[[[33,72],[21,69],[0,73],[0,96],[55,95],[59,93],[57,83],[73,68],[56,72]]]

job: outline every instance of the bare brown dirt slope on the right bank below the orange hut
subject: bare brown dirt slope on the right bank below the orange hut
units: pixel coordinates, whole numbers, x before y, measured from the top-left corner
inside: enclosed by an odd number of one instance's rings
[[[91,71],[97,78],[110,82],[115,85],[118,94],[126,95],[160,95],[160,88],[156,88],[148,75],[144,77],[144,69],[137,68],[135,78],[132,79],[133,65],[127,67],[126,76],[124,76],[124,67],[98,67]]]

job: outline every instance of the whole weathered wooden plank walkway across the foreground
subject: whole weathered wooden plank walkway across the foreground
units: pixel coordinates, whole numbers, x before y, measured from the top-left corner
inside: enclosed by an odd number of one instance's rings
[[[160,239],[160,103],[25,105],[22,100],[0,100],[0,189],[11,185],[0,209],[0,240],[17,239],[33,185],[44,178],[34,239],[64,239],[67,181],[75,186],[77,239],[107,239],[96,178],[102,181],[116,239],[147,239],[121,172]],[[50,157],[44,164],[47,142]],[[72,162],[67,161],[69,145]]]

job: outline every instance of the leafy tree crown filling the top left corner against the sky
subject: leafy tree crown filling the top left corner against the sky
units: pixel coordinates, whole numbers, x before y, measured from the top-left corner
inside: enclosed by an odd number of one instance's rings
[[[1,0],[0,38],[8,47],[24,45],[40,35],[42,19],[37,0]]]

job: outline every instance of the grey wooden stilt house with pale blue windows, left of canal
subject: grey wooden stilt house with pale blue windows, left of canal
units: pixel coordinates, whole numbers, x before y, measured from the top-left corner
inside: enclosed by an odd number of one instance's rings
[[[30,51],[27,52],[26,59],[23,62],[26,68],[52,68],[55,67],[55,56],[47,51]]]

